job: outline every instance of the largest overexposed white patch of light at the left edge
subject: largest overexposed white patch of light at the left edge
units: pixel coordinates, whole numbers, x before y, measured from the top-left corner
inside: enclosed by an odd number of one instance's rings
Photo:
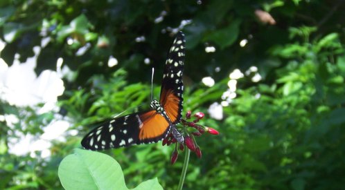
[[[8,67],[0,61],[1,99],[15,106],[34,106],[38,103],[57,102],[57,96],[64,92],[64,82],[53,70],[44,70],[38,77],[34,71],[40,48],[35,56],[20,64],[15,60]]]

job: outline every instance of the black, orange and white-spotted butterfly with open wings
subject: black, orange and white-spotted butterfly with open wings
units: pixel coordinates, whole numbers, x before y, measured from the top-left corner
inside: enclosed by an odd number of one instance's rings
[[[175,124],[182,117],[185,39],[178,32],[166,59],[161,82],[160,99],[150,103],[150,110],[114,117],[87,133],[82,146],[90,150],[105,150],[163,140],[171,133],[183,142]]]

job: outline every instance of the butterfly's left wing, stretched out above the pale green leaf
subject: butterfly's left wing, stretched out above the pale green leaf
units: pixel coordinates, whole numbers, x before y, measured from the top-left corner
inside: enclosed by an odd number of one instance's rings
[[[96,151],[158,142],[166,137],[169,126],[166,118],[157,111],[132,113],[96,127],[82,139],[82,146]]]

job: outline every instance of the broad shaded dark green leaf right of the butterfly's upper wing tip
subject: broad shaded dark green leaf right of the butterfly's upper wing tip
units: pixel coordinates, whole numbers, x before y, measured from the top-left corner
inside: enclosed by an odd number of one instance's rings
[[[214,41],[215,44],[220,46],[220,49],[227,48],[231,46],[236,39],[238,38],[238,33],[240,31],[240,20],[235,20],[221,30],[212,32],[209,36],[206,37],[206,40]]]

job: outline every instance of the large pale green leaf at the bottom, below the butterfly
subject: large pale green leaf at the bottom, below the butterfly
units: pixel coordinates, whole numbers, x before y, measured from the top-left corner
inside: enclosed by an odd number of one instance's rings
[[[120,164],[109,155],[76,149],[60,163],[58,175],[64,189],[127,189]],[[157,178],[135,189],[163,189]]]

